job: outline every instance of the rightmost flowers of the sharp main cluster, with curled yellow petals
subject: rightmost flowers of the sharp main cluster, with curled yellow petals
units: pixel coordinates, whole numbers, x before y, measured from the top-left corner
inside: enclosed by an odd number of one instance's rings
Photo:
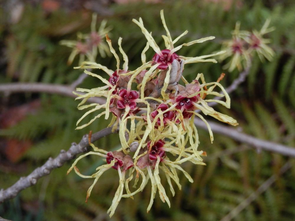
[[[188,139],[186,140],[189,141],[191,150],[196,156],[198,155],[197,148],[199,146],[199,138],[197,128],[194,125],[195,116],[200,118],[207,125],[211,142],[213,142],[213,133],[211,131],[210,125],[200,113],[196,112],[196,110],[201,111],[205,115],[212,116],[219,121],[229,123],[234,126],[237,125],[237,121],[235,119],[215,111],[208,105],[210,102],[218,102],[225,107],[230,108],[230,98],[222,85],[219,83],[221,78],[222,77],[220,77],[217,82],[206,83],[204,80],[204,75],[198,74],[192,83],[187,82],[185,86],[182,86],[178,95],[171,93],[170,100],[166,101],[166,103],[170,104],[170,108],[168,110],[175,111],[176,113],[173,126],[175,127],[176,124],[178,124],[177,129],[173,129],[172,131],[170,130],[169,133],[172,132],[175,134],[175,140],[173,140],[173,142],[175,142],[175,144],[180,147],[178,160],[180,160],[185,152],[186,142],[183,142],[183,136],[185,136],[185,134],[187,134]],[[201,79],[201,84],[199,83],[199,79]],[[224,94],[213,91],[216,87],[219,87]],[[225,96],[226,100],[221,101],[216,99],[205,99],[210,95],[219,97]],[[161,133],[165,133],[165,131],[161,131]],[[153,134],[154,133],[151,133],[151,138]],[[167,134],[167,136],[169,136],[169,134]]]

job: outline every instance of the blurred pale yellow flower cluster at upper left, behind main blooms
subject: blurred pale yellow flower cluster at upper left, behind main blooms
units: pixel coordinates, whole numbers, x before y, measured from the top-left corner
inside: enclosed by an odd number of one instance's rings
[[[106,55],[110,56],[111,53],[109,51],[109,47],[103,41],[104,36],[112,29],[110,27],[106,27],[106,20],[101,22],[101,25],[96,31],[96,20],[97,14],[92,15],[91,22],[91,32],[90,34],[77,34],[77,40],[62,40],[60,41],[61,45],[65,45],[67,47],[73,48],[70,57],[68,58],[68,65],[71,65],[76,55],[80,55],[79,57],[79,65],[85,60],[94,62],[96,60],[97,53],[101,55],[101,57],[106,57]],[[98,51],[97,51],[98,50]]]

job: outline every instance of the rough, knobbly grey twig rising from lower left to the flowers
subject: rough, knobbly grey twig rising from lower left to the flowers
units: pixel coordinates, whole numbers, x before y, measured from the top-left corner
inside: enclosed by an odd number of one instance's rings
[[[112,127],[102,129],[101,131],[98,131],[92,134],[91,142],[94,142],[111,133],[117,133],[117,132],[118,132],[117,130],[112,132]],[[27,177],[21,177],[15,184],[13,184],[11,187],[5,190],[1,189],[0,203],[6,199],[11,199],[16,197],[16,195],[20,191],[26,189],[27,187],[35,185],[41,177],[47,176],[48,174],[50,174],[50,172],[53,169],[63,166],[65,162],[73,159],[77,154],[86,152],[88,150],[88,146],[89,146],[88,134],[86,134],[83,136],[79,144],[72,143],[68,151],[61,150],[60,154],[58,154],[56,158],[53,159],[52,157],[50,157],[45,164],[36,168]]]

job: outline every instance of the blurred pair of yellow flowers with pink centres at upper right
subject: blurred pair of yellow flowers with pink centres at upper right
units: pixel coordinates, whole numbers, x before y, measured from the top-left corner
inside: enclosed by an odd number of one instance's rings
[[[270,19],[267,19],[260,31],[253,30],[253,32],[240,31],[240,23],[236,23],[232,39],[225,41],[222,45],[222,50],[226,50],[226,53],[220,55],[219,60],[223,61],[231,57],[231,60],[224,65],[224,69],[232,72],[237,68],[241,71],[243,67],[249,66],[254,52],[257,52],[261,61],[264,61],[264,58],[272,60],[274,51],[267,45],[270,39],[263,38],[263,35],[275,29],[274,27],[268,28],[269,23]]]

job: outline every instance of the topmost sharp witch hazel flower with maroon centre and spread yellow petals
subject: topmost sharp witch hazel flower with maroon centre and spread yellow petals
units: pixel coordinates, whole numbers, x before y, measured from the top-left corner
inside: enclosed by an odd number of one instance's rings
[[[136,19],[132,19],[132,21],[137,24],[140,29],[142,30],[142,33],[145,35],[148,44],[150,45],[150,47],[153,48],[153,50],[155,51],[155,55],[151,61],[151,63],[153,64],[153,66],[151,67],[152,70],[155,70],[156,68],[158,68],[159,70],[166,70],[168,68],[168,71],[166,72],[166,77],[164,80],[164,84],[163,84],[163,88],[161,90],[161,94],[162,96],[165,95],[165,91],[168,87],[169,84],[169,78],[170,78],[170,70],[171,70],[171,64],[174,60],[184,60],[184,64],[188,64],[188,63],[196,63],[196,62],[214,62],[216,63],[217,61],[215,59],[204,59],[207,57],[212,57],[212,56],[216,56],[216,55],[220,55],[223,54],[225,51],[222,52],[217,52],[215,54],[212,55],[203,55],[203,56],[199,56],[199,57],[184,57],[184,56],[178,56],[176,54],[176,52],[181,49],[183,46],[190,46],[192,44],[196,44],[196,43],[202,43],[205,42],[207,40],[212,40],[215,37],[210,36],[210,37],[205,37],[205,38],[201,38],[198,40],[194,40],[188,43],[184,43],[181,44],[177,47],[174,47],[174,44],[184,35],[186,35],[188,33],[188,31],[186,30],[185,32],[183,32],[180,36],[178,36],[176,39],[172,40],[171,34],[168,30],[168,27],[166,25],[165,22],[165,18],[164,18],[164,12],[163,10],[160,11],[160,16],[161,16],[161,20],[164,26],[164,29],[166,31],[166,36],[162,35],[164,42],[165,42],[165,47],[166,49],[160,50],[160,47],[158,46],[158,44],[155,42],[155,40],[153,39],[152,35],[150,34],[150,32],[144,27],[143,25],[143,21],[141,18],[139,18],[139,20],[137,21]],[[149,79],[151,77],[151,73],[148,73],[145,78]],[[146,79],[145,79],[146,80]],[[146,80],[147,81],[147,80]],[[145,82],[145,81],[143,81]],[[145,85],[142,85],[142,90],[141,93],[143,93],[144,87]]]

